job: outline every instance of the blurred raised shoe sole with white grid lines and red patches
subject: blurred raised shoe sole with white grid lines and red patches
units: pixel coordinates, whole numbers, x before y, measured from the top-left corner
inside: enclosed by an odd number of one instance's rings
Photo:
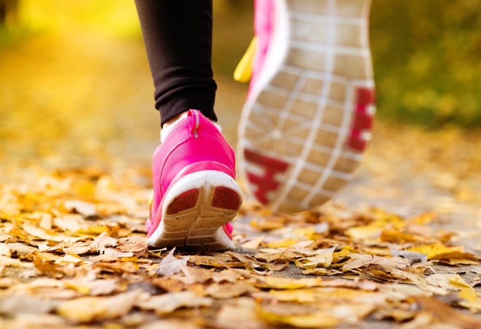
[[[239,124],[240,173],[262,204],[302,212],[351,180],[370,139],[370,0],[275,1],[278,25]]]

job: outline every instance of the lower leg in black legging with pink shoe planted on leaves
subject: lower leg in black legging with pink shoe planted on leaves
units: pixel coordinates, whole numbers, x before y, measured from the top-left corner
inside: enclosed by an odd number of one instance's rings
[[[234,150],[214,114],[212,0],[136,0],[161,112],[148,247],[232,249],[242,202]]]

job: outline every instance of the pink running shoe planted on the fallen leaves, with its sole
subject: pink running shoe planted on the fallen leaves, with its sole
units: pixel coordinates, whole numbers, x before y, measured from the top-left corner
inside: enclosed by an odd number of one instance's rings
[[[200,111],[179,119],[153,156],[148,247],[225,250],[242,203],[234,150]]]

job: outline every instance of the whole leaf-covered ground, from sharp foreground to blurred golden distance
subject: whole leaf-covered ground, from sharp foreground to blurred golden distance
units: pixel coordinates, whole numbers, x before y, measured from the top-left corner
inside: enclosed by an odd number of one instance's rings
[[[335,202],[247,197],[234,251],[146,251],[142,43],[32,37],[0,70],[0,328],[481,328],[478,132],[379,123]],[[218,82],[234,144],[247,90]]]

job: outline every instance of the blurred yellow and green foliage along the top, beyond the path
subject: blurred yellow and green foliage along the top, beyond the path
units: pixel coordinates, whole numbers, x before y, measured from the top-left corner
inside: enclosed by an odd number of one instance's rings
[[[232,75],[253,35],[252,19],[252,1],[214,0],[216,77]],[[0,53],[45,34],[74,36],[71,42],[96,34],[142,47],[132,0],[0,0],[0,21]],[[373,0],[370,30],[381,119],[480,126],[479,0]]]

